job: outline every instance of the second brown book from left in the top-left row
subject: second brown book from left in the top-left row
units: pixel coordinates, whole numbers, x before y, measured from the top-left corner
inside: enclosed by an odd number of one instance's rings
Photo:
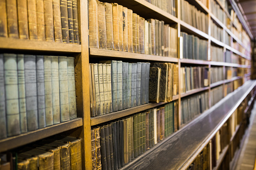
[[[19,38],[16,0],[6,1],[6,7],[8,35],[10,38]]]

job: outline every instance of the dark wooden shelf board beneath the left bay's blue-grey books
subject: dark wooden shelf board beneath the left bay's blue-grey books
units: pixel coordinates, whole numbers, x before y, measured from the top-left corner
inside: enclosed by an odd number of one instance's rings
[[[0,140],[0,152],[7,151],[49,136],[82,126],[82,118],[74,118],[45,128]]]

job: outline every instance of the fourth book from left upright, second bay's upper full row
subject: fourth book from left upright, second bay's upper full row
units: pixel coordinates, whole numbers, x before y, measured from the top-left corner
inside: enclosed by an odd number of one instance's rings
[[[119,51],[119,19],[118,19],[118,4],[112,4],[113,9],[113,37],[114,37],[114,50]]]

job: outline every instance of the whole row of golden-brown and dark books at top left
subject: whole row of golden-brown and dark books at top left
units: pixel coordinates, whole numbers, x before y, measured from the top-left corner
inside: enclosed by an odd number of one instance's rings
[[[0,36],[79,44],[77,0],[3,1]]]

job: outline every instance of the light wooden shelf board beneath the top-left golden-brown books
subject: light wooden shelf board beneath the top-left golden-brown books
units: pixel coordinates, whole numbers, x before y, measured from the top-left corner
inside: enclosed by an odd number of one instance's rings
[[[81,45],[0,37],[0,49],[81,53]]]

